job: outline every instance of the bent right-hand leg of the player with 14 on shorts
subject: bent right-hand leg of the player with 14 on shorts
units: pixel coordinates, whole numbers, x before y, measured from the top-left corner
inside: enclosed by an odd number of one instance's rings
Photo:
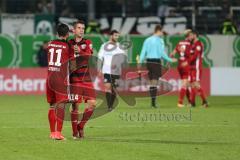
[[[79,138],[84,138],[84,127],[94,112],[94,109],[96,107],[96,100],[95,99],[87,100],[87,105],[88,106],[85,108],[83,112],[83,117],[80,123],[78,124]]]

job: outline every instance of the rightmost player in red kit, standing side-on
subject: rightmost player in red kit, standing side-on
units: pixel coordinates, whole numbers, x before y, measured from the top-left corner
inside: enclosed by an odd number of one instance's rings
[[[208,102],[204,91],[200,85],[201,74],[202,74],[202,61],[203,61],[203,44],[198,39],[198,32],[192,31],[193,44],[190,58],[190,82],[191,82],[191,101],[192,106],[195,106],[195,96],[199,93],[202,99],[202,105],[208,107]]]

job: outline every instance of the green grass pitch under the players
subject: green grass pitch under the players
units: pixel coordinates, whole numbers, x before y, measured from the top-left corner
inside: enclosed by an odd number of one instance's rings
[[[175,96],[159,97],[160,109],[150,108],[148,98],[138,99],[135,107],[121,101],[116,110],[87,124],[83,141],[72,140],[70,122],[64,124],[66,141],[48,138],[44,96],[1,96],[0,102],[1,160],[237,160],[240,156],[239,97],[209,97],[211,107],[191,109],[191,119],[189,108],[176,107]],[[151,113],[186,118],[148,117],[148,122],[136,118]]]

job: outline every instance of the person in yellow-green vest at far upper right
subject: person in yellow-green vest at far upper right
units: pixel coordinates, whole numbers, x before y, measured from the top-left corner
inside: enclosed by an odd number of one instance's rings
[[[232,21],[232,17],[230,15],[224,20],[221,27],[221,33],[224,35],[234,35],[238,33],[237,27]]]

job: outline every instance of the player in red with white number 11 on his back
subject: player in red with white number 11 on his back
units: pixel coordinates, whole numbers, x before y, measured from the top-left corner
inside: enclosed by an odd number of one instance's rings
[[[52,40],[48,43],[48,77],[46,83],[47,101],[50,104],[48,111],[48,120],[50,125],[50,138],[63,140],[61,134],[64,106],[68,101],[68,60],[69,45],[67,38],[69,36],[69,28],[65,24],[57,26],[57,34],[59,39]],[[63,85],[63,79],[66,79]],[[61,87],[59,87],[61,86]]]

